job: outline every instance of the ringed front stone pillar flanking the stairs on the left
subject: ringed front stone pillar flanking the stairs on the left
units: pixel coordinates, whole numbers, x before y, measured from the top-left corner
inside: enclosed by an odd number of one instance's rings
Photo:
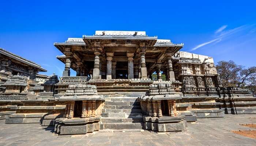
[[[99,79],[99,55],[102,51],[101,47],[95,47],[93,48],[95,58],[94,58],[94,68],[93,68],[93,80]]]

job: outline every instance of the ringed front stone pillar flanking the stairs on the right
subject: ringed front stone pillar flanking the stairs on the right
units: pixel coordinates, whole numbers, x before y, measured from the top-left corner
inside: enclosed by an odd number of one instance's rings
[[[146,68],[146,60],[145,60],[145,52],[146,51],[146,47],[145,47],[145,43],[140,43],[140,49],[139,49],[139,53],[140,53],[140,78],[147,78],[147,68]]]

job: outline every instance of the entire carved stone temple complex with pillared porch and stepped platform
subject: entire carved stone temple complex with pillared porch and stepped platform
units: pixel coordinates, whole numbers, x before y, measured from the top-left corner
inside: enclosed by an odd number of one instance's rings
[[[256,114],[248,89],[223,87],[212,57],[145,31],[96,31],[54,43],[62,77],[0,49],[0,119],[60,135],[183,131],[197,118]],[[70,69],[76,76],[70,76]],[[154,75],[154,77],[153,77]]]

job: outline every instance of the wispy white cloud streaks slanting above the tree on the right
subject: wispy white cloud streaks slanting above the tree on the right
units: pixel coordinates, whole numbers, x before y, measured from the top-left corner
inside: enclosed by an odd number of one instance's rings
[[[207,42],[201,43],[201,44],[193,47],[191,49],[191,51],[196,50],[196,49],[198,49],[200,47],[203,47],[205,45],[208,45],[210,43],[214,43],[214,44],[218,43],[218,42],[222,41],[224,38],[231,37],[231,36],[233,36],[234,34],[240,32],[240,31],[248,30],[252,26],[253,25],[251,25],[251,26],[250,25],[243,25],[243,26],[239,26],[239,27],[236,27],[236,28],[233,28],[233,29],[224,30],[227,27],[227,25],[224,25],[224,26],[220,27],[218,30],[216,30],[214,32],[214,36],[213,36],[214,39],[212,39],[211,41],[207,41]]]

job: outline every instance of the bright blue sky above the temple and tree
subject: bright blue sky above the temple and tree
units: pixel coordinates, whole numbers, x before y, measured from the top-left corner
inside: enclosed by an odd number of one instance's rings
[[[181,51],[256,66],[256,1],[1,1],[0,47],[62,75],[53,46],[95,30],[136,30]],[[75,75],[72,71],[71,75]]]

